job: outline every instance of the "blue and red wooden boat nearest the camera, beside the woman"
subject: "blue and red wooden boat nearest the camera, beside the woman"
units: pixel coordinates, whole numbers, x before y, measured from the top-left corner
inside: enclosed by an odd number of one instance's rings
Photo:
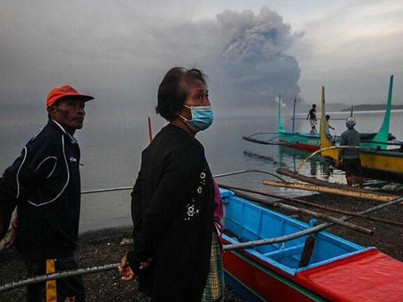
[[[220,190],[225,244],[280,237],[310,226]],[[247,301],[403,300],[402,262],[321,231],[314,235],[308,264],[299,267],[307,238],[224,252],[226,284]]]

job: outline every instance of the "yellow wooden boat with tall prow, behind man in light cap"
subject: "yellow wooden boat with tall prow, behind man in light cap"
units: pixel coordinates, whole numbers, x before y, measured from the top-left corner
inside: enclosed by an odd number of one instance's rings
[[[321,117],[325,115],[324,87],[321,97]],[[386,118],[386,116],[385,116]],[[382,125],[383,127],[384,125]],[[382,129],[381,127],[381,129]],[[320,122],[320,148],[335,146],[326,135],[323,120]],[[403,148],[384,149],[379,143],[362,143],[361,146],[368,148],[361,149],[360,159],[364,176],[403,183]],[[375,148],[374,148],[375,147]],[[339,149],[331,148],[320,152],[322,157],[335,161],[339,157]]]

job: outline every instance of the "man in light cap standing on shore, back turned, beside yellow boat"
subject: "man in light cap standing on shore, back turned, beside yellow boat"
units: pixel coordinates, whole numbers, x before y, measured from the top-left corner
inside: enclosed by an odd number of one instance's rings
[[[352,116],[346,119],[347,130],[340,136],[341,146],[359,146],[360,145],[360,133],[354,126],[356,124],[356,119]],[[363,188],[363,176],[362,167],[360,160],[360,149],[359,148],[341,148],[339,150],[339,159],[335,163],[338,167],[340,163],[343,162],[344,170],[346,171],[346,180],[349,186],[353,185],[352,176],[357,176],[358,184],[360,188]]]

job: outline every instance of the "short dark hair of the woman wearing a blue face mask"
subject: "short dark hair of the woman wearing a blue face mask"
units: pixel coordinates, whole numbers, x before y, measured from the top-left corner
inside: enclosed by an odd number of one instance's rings
[[[158,103],[155,107],[157,114],[168,121],[175,119],[186,100],[187,85],[199,80],[207,86],[206,78],[207,75],[197,68],[173,67],[169,69],[158,88]]]

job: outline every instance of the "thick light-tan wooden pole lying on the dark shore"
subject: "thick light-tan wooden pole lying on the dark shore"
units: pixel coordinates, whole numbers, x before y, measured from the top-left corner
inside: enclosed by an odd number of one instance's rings
[[[398,197],[398,196],[390,196],[390,195],[381,195],[381,194],[376,194],[376,193],[356,192],[353,190],[349,190],[347,188],[332,188],[332,187],[325,187],[325,186],[321,186],[321,185],[307,185],[307,184],[300,184],[300,183],[274,181],[274,180],[270,180],[270,179],[263,179],[262,184],[267,185],[267,186],[293,188],[293,189],[316,191],[316,192],[322,192],[322,193],[331,193],[331,194],[350,196],[350,197],[362,198],[362,199],[371,199],[371,200],[377,200],[377,201],[390,201],[390,200],[393,200]]]

